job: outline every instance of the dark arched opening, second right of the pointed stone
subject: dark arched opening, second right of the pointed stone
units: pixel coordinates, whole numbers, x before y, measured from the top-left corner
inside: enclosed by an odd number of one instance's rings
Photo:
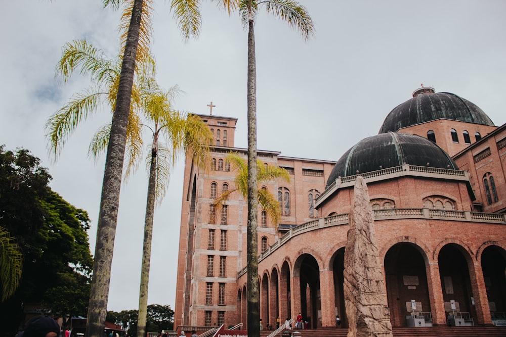
[[[476,321],[476,310],[471,302],[471,278],[463,252],[465,251],[455,244],[441,248],[438,256],[439,274],[448,323],[454,323],[454,318],[463,318],[463,325],[471,325],[473,319]]]

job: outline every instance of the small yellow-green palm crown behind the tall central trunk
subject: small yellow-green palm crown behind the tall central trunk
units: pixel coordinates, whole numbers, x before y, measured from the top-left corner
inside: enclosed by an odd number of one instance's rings
[[[216,198],[212,206],[216,213],[219,213],[222,205],[228,200],[228,196],[238,191],[244,198],[247,197],[247,183],[248,183],[248,166],[246,160],[239,156],[237,153],[230,153],[227,155],[226,160],[231,164],[232,170],[236,170],[237,174],[234,178],[235,186],[224,191]],[[290,182],[290,174],[284,168],[274,165],[266,165],[262,161],[257,160],[257,184],[271,182],[277,178],[281,178]],[[257,188],[258,189],[258,188]],[[269,215],[272,223],[278,223],[281,216],[281,207],[276,197],[267,189],[258,189],[258,204],[260,208],[265,210]]]

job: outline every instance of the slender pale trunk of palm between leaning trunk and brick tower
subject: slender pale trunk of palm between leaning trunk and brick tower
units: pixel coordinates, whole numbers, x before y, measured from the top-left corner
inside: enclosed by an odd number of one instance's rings
[[[137,337],[146,336],[146,318],[148,313],[149,266],[151,260],[151,239],[153,236],[153,217],[156,190],[156,154],[157,139],[153,137],[151,147],[151,164],[149,165],[148,197],[146,201],[146,217],[144,219],[144,246],[142,250],[141,287],[139,290],[139,312],[137,316]]]

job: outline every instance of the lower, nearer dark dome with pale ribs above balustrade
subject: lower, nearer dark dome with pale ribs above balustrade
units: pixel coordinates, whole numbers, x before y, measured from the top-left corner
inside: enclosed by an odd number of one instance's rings
[[[367,173],[400,166],[417,166],[458,170],[455,162],[432,141],[409,133],[381,133],[360,140],[335,164],[327,186],[338,177]]]

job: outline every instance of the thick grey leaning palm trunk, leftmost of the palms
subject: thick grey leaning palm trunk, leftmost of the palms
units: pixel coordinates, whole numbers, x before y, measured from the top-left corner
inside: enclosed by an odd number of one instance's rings
[[[103,337],[109,282],[111,279],[112,254],[118,221],[119,192],[126,143],[126,125],[130,113],[132,85],[134,83],[135,59],[143,0],[135,0],[132,19],[126,39],[123,63],[119,77],[116,108],[112,119],[111,134],[107,147],[102,197],[93,263],[93,278],[88,304],[86,335]]]

